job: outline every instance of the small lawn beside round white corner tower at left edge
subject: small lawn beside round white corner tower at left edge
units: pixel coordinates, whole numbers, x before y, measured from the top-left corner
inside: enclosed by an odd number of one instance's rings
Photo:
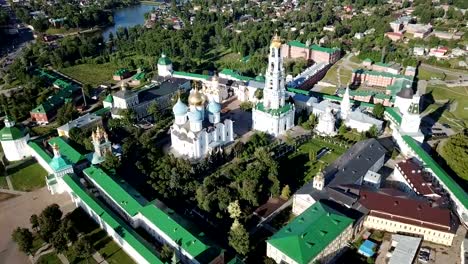
[[[45,186],[45,176],[47,172],[36,162],[14,172],[10,179],[15,190],[32,191]]]

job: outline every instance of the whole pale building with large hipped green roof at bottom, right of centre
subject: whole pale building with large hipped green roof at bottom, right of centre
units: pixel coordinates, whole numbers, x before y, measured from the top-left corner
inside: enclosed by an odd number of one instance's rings
[[[317,202],[267,240],[267,256],[277,263],[330,263],[352,239],[352,224]]]

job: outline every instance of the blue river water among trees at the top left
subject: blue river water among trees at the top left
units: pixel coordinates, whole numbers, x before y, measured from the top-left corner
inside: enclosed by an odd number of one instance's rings
[[[104,39],[108,39],[110,32],[112,32],[115,36],[115,32],[117,32],[119,27],[133,27],[136,25],[143,25],[145,23],[145,13],[150,12],[153,10],[153,8],[158,7],[155,5],[140,4],[115,10],[114,25],[106,28],[102,32]]]

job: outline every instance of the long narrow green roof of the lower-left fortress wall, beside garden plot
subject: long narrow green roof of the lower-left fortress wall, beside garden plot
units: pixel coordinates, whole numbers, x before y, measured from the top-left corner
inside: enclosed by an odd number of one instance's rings
[[[150,245],[111,210],[89,195],[75,177],[65,175],[62,179],[73,191],[73,195],[79,197],[102,221],[109,225],[125,242],[145,258],[148,263],[163,264]]]

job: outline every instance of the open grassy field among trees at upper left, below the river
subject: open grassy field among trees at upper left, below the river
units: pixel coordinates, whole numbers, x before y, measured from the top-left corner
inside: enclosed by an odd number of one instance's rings
[[[114,63],[80,64],[60,69],[60,72],[82,83],[98,86],[103,83],[112,82],[112,75],[118,68]]]

